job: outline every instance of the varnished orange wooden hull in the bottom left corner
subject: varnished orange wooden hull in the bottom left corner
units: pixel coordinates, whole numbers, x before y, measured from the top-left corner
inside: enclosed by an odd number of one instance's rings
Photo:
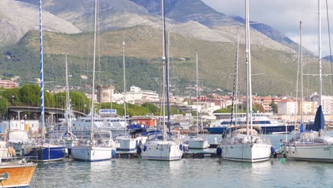
[[[0,174],[9,173],[9,179],[1,182],[1,187],[28,187],[37,164],[0,165]]]

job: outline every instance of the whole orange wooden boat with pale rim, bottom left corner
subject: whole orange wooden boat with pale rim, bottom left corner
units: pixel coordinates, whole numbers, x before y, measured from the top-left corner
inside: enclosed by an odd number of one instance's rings
[[[26,162],[25,159],[1,162],[1,187],[27,187],[31,182],[36,166],[37,164]]]

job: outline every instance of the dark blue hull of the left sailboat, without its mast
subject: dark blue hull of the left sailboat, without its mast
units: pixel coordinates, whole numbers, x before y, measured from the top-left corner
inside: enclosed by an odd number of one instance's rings
[[[51,145],[46,146],[32,146],[22,148],[23,156],[29,157],[31,161],[49,162],[63,160],[65,156],[65,147]]]

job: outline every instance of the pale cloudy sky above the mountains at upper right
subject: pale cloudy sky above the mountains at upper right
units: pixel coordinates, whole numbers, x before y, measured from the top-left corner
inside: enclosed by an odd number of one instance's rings
[[[216,11],[228,16],[245,14],[245,0],[201,0]],[[333,45],[333,1],[328,1],[329,26]],[[329,56],[326,0],[320,0],[322,11],[322,56]],[[258,21],[285,33],[293,41],[300,41],[302,21],[302,44],[318,55],[318,0],[250,0],[250,20]],[[333,53],[333,51],[332,51]]]

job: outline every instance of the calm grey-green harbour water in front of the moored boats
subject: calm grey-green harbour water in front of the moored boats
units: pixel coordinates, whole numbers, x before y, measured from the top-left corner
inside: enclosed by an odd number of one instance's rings
[[[220,136],[208,135],[208,140],[215,137]],[[285,135],[265,137],[275,146],[285,139]],[[333,187],[333,163],[277,158],[251,164],[210,157],[51,162],[38,164],[30,187]]]

